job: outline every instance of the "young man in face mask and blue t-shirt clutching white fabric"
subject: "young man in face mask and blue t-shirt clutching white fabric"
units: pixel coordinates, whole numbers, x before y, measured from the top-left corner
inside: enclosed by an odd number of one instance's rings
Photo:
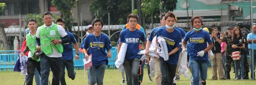
[[[162,74],[161,85],[172,85],[175,77],[177,62],[179,59],[179,49],[181,47],[181,33],[175,29],[175,14],[167,12],[164,16],[166,26],[157,30],[157,37],[162,36],[168,49],[168,60],[159,57]]]

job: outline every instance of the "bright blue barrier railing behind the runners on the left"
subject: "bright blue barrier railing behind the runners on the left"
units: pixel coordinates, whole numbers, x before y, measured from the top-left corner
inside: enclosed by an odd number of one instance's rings
[[[17,57],[19,56],[19,50],[15,51],[0,51],[0,71],[13,71],[13,68],[15,66],[15,63],[17,61]],[[76,50],[73,49],[73,56],[75,56]],[[106,65],[106,68],[116,68],[115,61],[116,61],[116,47],[111,48],[111,54],[112,57],[108,58],[108,65]],[[79,52],[79,59],[74,61],[74,68],[75,69],[84,69],[84,54]]]

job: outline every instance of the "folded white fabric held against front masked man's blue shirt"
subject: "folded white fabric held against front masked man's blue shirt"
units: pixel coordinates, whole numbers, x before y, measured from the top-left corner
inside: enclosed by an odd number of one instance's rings
[[[165,61],[169,59],[166,41],[162,36],[157,37],[157,53],[160,57],[163,57]]]

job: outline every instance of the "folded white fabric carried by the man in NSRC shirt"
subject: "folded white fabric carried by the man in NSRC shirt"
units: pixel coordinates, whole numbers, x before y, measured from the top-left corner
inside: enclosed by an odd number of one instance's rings
[[[118,54],[118,58],[115,62],[116,68],[118,68],[119,71],[123,71],[123,66],[122,64],[125,61],[125,54],[126,54],[126,50],[127,50],[127,44],[126,43],[122,43],[121,48],[119,50],[119,54]],[[121,67],[121,68],[119,68]]]

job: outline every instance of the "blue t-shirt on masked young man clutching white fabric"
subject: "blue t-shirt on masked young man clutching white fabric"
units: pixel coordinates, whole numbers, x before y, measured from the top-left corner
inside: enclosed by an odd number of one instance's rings
[[[166,41],[168,53],[170,53],[176,47],[181,47],[181,34],[180,31],[174,29],[171,33],[166,30],[166,27],[161,27],[157,30],[157,37],[163,36]],[[177,51],[175,54],[169,55],[169,59],[166,61],[171,65],[177,65],[180,52]]]

